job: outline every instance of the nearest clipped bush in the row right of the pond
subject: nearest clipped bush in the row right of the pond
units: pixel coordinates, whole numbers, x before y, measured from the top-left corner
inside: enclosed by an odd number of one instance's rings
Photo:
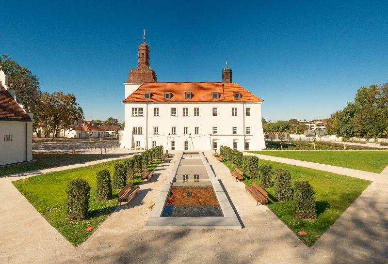
[[[294,183],[294,217],[304,220],[317,218],[317,208],[314,198],[315,190],[307,181]]]

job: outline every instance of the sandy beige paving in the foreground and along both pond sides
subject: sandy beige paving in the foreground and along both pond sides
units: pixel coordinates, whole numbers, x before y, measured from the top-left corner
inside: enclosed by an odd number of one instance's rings
[[[140,186],[141,191],[129,206],[119,206],[78,248],[72,247],[18,193],[11,184],[13,178],[4,177],[0,178],[0,198],[6,201],[0,206],[0,262],[387,263],[388,184],[383,177],[373,182],[308,248],[267,206],[257,206],[245,193],[244,184],[236,182],[224,164],[210,152],[205,155],[226,189],[242,230],[143,229],[174,157],[156,168],[154,177]],[[354,173],[354,177],[372,177],[358,172],[349,173]]]

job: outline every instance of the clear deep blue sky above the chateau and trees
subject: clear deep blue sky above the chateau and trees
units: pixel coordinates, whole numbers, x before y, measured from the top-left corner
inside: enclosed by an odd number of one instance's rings
[[[233,81],[268,120],[328,117],[388,80],[387,1],[11,1],[0,53],[74,93],[85,118],[124,119],[123,82],[146,29],[158,81]]]

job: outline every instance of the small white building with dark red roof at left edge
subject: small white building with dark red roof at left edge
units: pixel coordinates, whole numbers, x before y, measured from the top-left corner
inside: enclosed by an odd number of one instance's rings
[[[32,124],[0,66],[0,165],[32,160]]]

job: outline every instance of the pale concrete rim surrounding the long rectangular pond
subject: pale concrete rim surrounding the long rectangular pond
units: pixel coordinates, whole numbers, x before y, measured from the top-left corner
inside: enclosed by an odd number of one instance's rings
[[[208,173],[210,182],[216,194],[218,203],[224,217],[162,217],[164,206],[172,187],[174,177],[178,171],[178,166],[183,156],[183,152],[177,153],[177,162],[174,164],[170,174],[167,176],[162,186],[161,192],[155,202],[154,208],[147,219],[145,229],[242,229],[241,223],[237,218],[230,202],[228,201],[224,189],[219,183],[217,177],[210,168],[205,155],[199,152],[203,165]]]

